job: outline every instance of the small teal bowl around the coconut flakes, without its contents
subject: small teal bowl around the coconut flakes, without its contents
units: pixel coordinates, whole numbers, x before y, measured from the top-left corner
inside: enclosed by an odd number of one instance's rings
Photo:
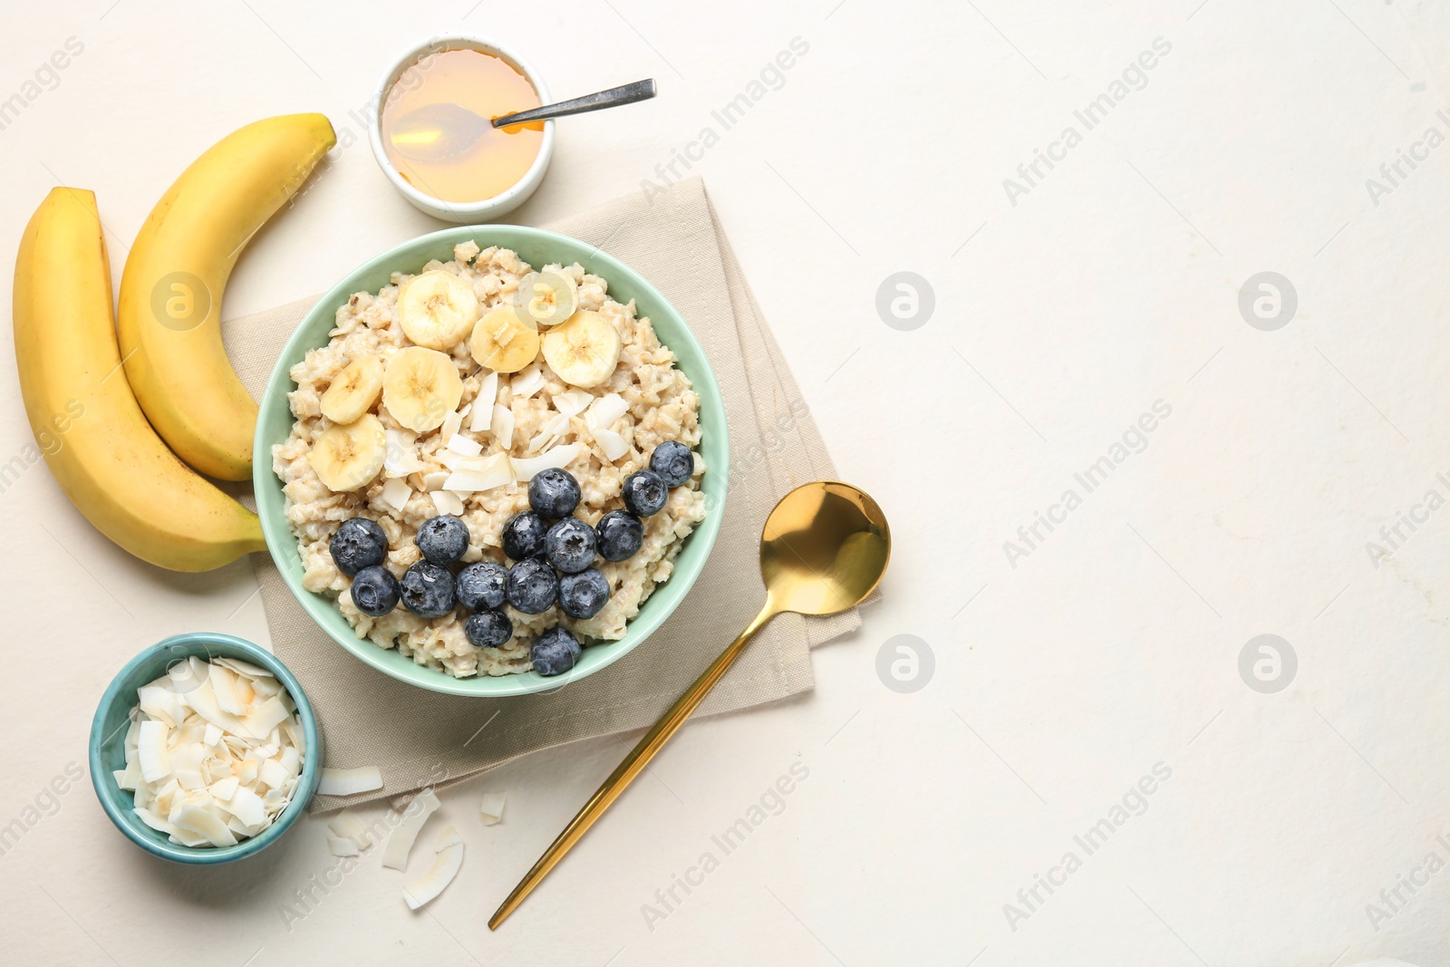
[[[126,723],[130,707],[136,705],[136,689],[155,681],[167,673],[167,668],[191,655],[207,660],[241,658],[277,676],[277,680],[291,694],[293,702],[297,703],[297,719],[302,722],[307,747],[302,763],[302,777],[297,780],[297,790],[293,793],[291,802],[273,825],[251,839],[242,839],[235,847],[183,847],[171,842],[164,832],[152,829],[136,818],[136,813],[132,812],[135,806],[132,793],[117,786],[116,777],[112,776],[115,770],[126,767]],[[96,787],[96,797],[100,799],[102,809],[116,823],[116,828],[126,834],[128,839],[162,860],[215,866],[261,852],[277,842],[297,821],[297,816],[307,810],[307,803],[318,792],[318,783],[322,781],[322,732],[318,731],[318,719],[302,684],[283,663],[277,661],[276,655],[232,635],[191,632],[151,645],[132,658],[112,680],[106,694],[100,699],[100,707],[96,709],[96,719],[91,722],[90,770],[91,784]]]

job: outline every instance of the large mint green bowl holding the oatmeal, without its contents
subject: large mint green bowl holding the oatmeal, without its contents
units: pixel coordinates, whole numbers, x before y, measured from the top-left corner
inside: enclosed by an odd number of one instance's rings
[[[644,603],[635,619],[629,622],[625,636],[615,642],[586,648],[573,671],[548,678],[535,671],[497,678],[487,676],[454,678],[442,671],[415,664],[396,649],[378,648],[371,641],[358,638],[332,600],[302,587],[302,558],[297,554],[297,539],[287,526],[281,481],[273,473],[271,449],[276,444],[284,442],[291,433],[293,418],[291,410],[287,407],[287,393],[294,390],[296,384],[287,374],[293,365],[302,362],[307,349],[328,344],[328,332],[332,329],[338,307],[352,293],[376,293],[389,284],[393,273],[418,273],[423,264],[434,258],[447,262],[452,258],[454,245],[467,242],[468,239],[476,241],[478,248],[490,245],[512,248],[519,254],[519,258],[535,268],[548,262],[561,262],[564,265],[579,262],[587,271],[608,281],[610,297],[622,303],[628,303],[631,299],[635,300],[639,315],[650,318],[655,333],[660,336],[660,342],[674,351],[677,365],[690,377],[690,383],[695,384],[695,391],[700,397],[702,439],[699,452],[709,468],[700,478],[700,489],[705,491],[709,515],[684,539],[684,547],[674,561],[674,571],[670,580],[657,587]],[[291,339],[287,341],[281,357],[277,360],[277,367],[267,383],[267,394],[262,397],[261,409],[257,415],[257,441],[252,461],[257,513],[261,516],[262,534],[267,536],[267,549],[271,551],[273,561],[277,563],[277,570],[281,571],[283,580],[297,602],[302,603],[303,610],[312,616],[332,641],[338,642],[338,645],[360,661],[373,665],[383,674],[392,676],[399,681],[406,681],[429,692],[493,699],[548,692],[568,681],[593,674],[624,658],[641,641],[648,638],[655,628],[664,623],[664,619],[684,600],[690,586],[695,584],[695,578],[700,576],[700,571],[705,568],[705,558],[709,555],[710,547],[715,544],[715,535],[719,532],[721,513],[725,507],[729,441],[725,432],[725,402],[721,399],[719,386],[715,383],[710,364],[705,358],[705,349],[696,342],[695,335],[684,319],[680,318],[680,313],[674,310],[674,306],[654,286],[618,260],[579,239],[519,225],[470,225],[444,229],[442,232],[434,232],[415,238],[410,242],[403,242],[360,265],[347,278],[334,286],[326,296],[318,300],[318,304],[303,318]]]

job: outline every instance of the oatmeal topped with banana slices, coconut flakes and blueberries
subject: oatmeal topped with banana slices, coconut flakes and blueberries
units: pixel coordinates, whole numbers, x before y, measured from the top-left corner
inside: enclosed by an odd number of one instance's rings
[[[454,248],[336,312],[273,448],[303,587],[454,677],[624,638],[705,519],[699,397],[579,264]]]

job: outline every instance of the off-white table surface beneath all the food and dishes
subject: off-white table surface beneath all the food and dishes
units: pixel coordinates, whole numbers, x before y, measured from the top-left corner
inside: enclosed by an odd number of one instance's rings
[[[687,728],[490,934],[624,741],[445,793],[468,854],[425,912],[376,854],[310,886],[336,863],[316,819],[232,868],[151,860],[88,783],[54,803],[44,790],[84,765],[94,702],[135,651],[190,629],[265,642],[257,584],[245,561],[139,564],[33,467],[0,493],[0,825],[38,799],[46,815],[0,855],[0,960],[1450,963],[1450,873],[1424,866],[1450,861],[1436,839],[1450,841],[1450,510],[1402,526],[1379,567],[1366,549],[1427,491],[1450,496],[1450,146],[1402,162],[1392,191],[1366,187],[1427,128],[1450,135],[1436,115],[1450,116],[1450,14],[1430,0],[12,3],[0,99],[68,38],[84,49],[0,130],[0,261],[57,183],[94,188],[129,242],[213,141],[322,110],[352,144],[248,248],[226,313],[325,289],[439,228],[387,186],[357,117],[402,46],[458,28],[516,45],[557,96],[660,81],[650,104],[560,125],[521,212],[535,223],[639,190],[793,38],[809,45],[693,173],[841,476],[890,515],[886,600],[816,652],[813,693]],[[1170,52],[1083,133],[1073,112],[1156,38]],[[1003,180],[1067,125],[1080,144],[1014,204]],[[876,312],[895,271],[934,289],[915,331]],[[1272,332],[1237,306],[1262,271],[1298,294]],[[4,461],[29,431],[0,370]],[[1146,449],[1086,493],[1073,474],[1157,400],[1172,413]],[[1003,544],[1067,489],[1080,506],[1009,561]],[[1260,634],[1298,657],[1276,693],[1238,673]],[[916,692],[877,676],[895,635],[934,654]],[[783,812],[724,855],[712,835],[796,763],[809,777]],[[1074,835],[1160,763],[1170,777],[1141,815],[1088,855]],[[509,796],[494,828],[476,818],[486,789]],[[661,906],[655,890],[706,851],[718,868]],[[1060,886],[1019,899],[1037,874]],[[1428,881],[1389,908],[1401,877]]]

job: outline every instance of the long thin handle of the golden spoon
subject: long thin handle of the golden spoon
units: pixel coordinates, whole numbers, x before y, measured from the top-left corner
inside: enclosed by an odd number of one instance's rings
[[[695,680],[695,684],[684,690],[684,694],[682,694],[676,703],[670,706],[670,710],[654,723],[654,728],[651,728],[642,739],[639,739],[639,744],[635,745],[629,755],[625,757],[625,761],[619,763],[619,767],[609,774],[605,784],[589,797],[589,802],[579,810],[579,815],[574,816],[567,826],[564,826],[564,832],[558,834],[558,838],[554,839],[550,848],[544,851],[544,855],[539,857],[539,861],[535,863],[534,868],[528,871],[528,876],[525,876],[519,884],[513,887],[513,893],[509,893],[509,899],[506,899],[493,916],[489,918],[489,929],[499,929],[499,924],[506,921],[509,913],[518,909],[519,903],[522,903],[523,899],[534,892],[534,887],[536,887],[544,877],[548,876],[550,870],[554,868],[554,864],[563,860],[564,854],[568,852],[586,832],[589,832],[589,828],[594,825],[594,821],[605,815],[605,810],[609,809],[616,799],[619,799],[619,794],[624,793],[625,787],[634,781],[635,776],[642,773],[645,765],[650,764],[650,760],[652,760],[660,750],[664,748],[664,744],[670,741],[670,736],[680,731],[680,726],[684,725],[684,721],[690,718],[690,713],[699,707],[700,702],[705,700],[705,696],[710,693],[710,689],[713,689],[719,680],[725,677],[725,673],[729,671],[729,667],[735,664],[735,660],[740,658],[742,651],[745,651],[745,645],[748,645],[750,639],[755,636],[755,632],[764,628],[766,622],[774,616],[774,605],[767,599],[766,606],[760,609],[755,619],[747,625],[745,631],[740,632],[740,638],[732,641],[729,648],[722,651],[719,658],[710,663],[710,667]]]

